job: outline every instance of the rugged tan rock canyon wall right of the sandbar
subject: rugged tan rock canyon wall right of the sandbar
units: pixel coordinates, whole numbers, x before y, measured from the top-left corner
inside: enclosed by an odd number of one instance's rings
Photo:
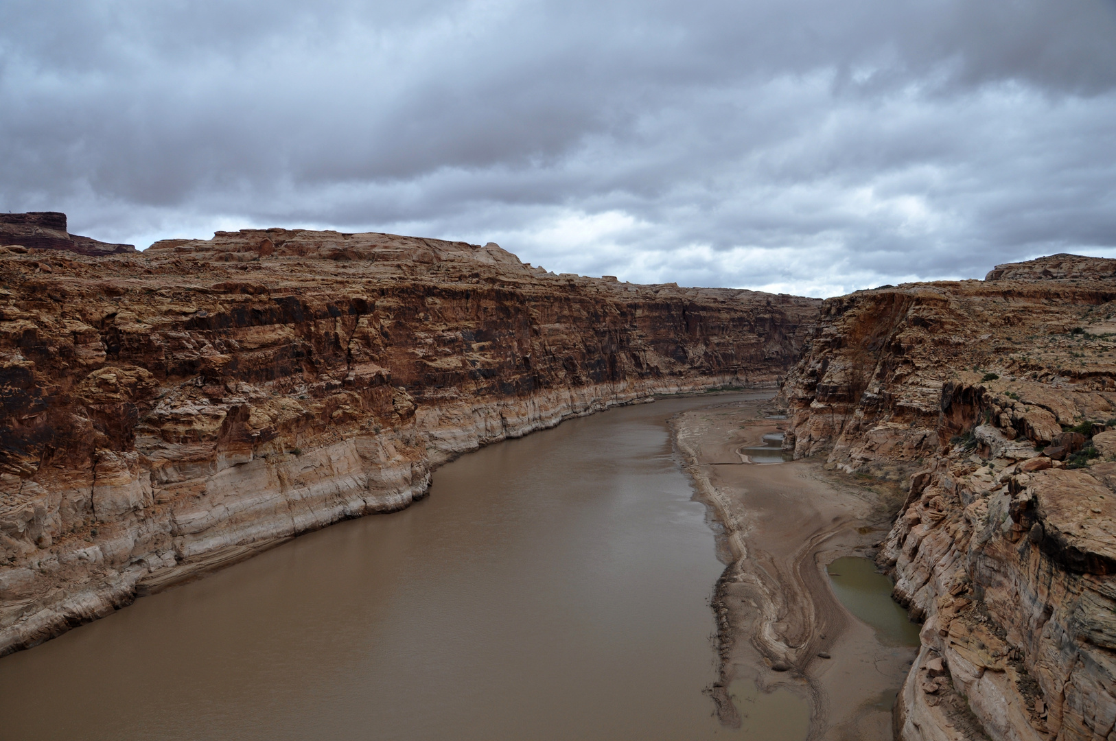
[[[785,445],[903,482],[901,739],[1116,738],[1116,260],[829,299]]]

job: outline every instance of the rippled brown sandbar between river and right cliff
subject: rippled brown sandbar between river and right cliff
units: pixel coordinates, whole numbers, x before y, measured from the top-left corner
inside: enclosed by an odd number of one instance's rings
[[[825,567],[874,556],[898,494],[844,481],[817,461],[748,463],[738,449],[786,425],[767,418],[767,404],[733,402],[671,421],[699,497],[722,529],[727,568],[713,598],[721,665],[710,692],[729,725],[783,730],[778,713],[750,720],[759,705],[733,702],[754,684],[761,699],[790,692],[808,703],[810,739],[891,739],[892,700],[916,649],[881,643],[834,596]]]

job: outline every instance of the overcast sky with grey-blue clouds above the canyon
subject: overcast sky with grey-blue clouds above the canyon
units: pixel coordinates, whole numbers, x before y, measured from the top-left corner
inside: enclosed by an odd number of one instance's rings
[[[3,0],[0,210],[812,296],[1116,257],[1116,0]]]

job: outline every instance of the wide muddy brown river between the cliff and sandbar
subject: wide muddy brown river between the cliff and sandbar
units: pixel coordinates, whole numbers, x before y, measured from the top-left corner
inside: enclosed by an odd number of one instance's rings
[[[720,726],[703,693],[723,566],[666,425],[747,397],[489,446],[407,510],[4,657],[0,738],[763,741]]]

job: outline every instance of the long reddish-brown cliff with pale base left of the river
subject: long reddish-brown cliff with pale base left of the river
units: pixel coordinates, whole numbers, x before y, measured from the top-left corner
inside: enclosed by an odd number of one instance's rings
[[[406,507],[479,445],[772,384],[820,305],[282,229],[98,258],[0,248],[0,654]]]

